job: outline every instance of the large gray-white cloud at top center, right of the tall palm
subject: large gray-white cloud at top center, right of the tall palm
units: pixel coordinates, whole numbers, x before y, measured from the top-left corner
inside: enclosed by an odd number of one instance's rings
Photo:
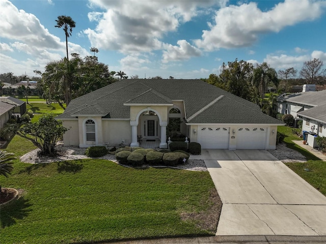
[[[161,38],[176,32],[180,24],[191,20],[200,9],[226,1],[105,1],[91,0],[106,12],[89,14],[97,21],[95,29],[85,29],[92,46],[118,50],[125,54],[150,52],[162,48]]]

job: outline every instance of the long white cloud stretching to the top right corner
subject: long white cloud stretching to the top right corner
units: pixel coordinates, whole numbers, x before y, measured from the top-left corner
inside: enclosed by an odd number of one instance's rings
[[[318,18],[325,6],[326,2],[320,0],[285,0],[267,12],[254,2],[221,8],[216,11],[214,23],[208,23],[210,30],[203,31],[202,39],[195,40],[195,44],[207,51],[251,46],[260,34]]]

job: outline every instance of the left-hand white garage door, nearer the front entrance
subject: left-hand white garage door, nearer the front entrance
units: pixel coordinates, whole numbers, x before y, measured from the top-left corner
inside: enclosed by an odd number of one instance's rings
[[[198,142],[206,149],[228,149],[230,128],[198,127]]]

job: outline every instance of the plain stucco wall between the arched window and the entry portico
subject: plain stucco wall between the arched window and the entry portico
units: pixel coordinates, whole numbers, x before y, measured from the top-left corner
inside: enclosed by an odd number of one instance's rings
[[[110,146],[119,145],[124,139],[126,145],[131,143],[131,126],[129,120],[103,120],[103,142]]]

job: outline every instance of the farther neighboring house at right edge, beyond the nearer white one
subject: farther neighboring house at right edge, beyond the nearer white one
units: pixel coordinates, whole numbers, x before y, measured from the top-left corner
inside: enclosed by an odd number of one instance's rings
[[[292,114],[294,118],[297,113],[304,110],[325,105],[326,90],[319,92],[302,92],[282,96],[277,99],[277,111],[283,114]]]

